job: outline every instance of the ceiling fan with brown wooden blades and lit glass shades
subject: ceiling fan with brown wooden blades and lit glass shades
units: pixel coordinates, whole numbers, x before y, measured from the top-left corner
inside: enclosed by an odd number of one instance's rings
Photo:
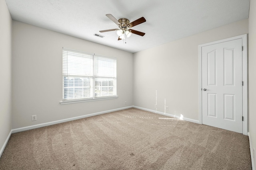
[[[134,29],[130,29],[131,27],[134,27],[135,25],[139,25],[143,22],[146,22],[146,19],[144,17],[139,18],[138,20],[135,20],[130,23],[130,21],[126,18],[120,18],[119,20],[116,20],[116,18],[114,18],[114,16],[112,16],[111,14],[106,14],[106,16],[110,20],[112,20],[114,23],[116,23],[116,25],[118,25],[119,29],[106,29],[106,30],[100,31],[101,33],[108,32],[108,31],[116,31],[117,35],[119,36],[118,40],[125,39],[125,37],[130,37],[132,35],[132,33],[140,35],[140,36],[145,35],[145,33],[143,33],[143,32],[136,31]]]

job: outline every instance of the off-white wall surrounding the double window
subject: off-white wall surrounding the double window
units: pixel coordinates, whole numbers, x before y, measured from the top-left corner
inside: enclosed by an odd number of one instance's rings
[[[12,24],[12,129],[133,105],[132,53],[18,21]],[[116,57],[118,99],[60,105],[62,47]],[[31,121],[32,115],[37,121]]]

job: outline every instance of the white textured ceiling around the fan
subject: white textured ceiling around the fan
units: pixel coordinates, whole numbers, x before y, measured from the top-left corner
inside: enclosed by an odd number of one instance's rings
[[[138,52],[188,37],[249,16],[250,0],[6,0],[13,20],[50,29],[128,52]],[[118,26],[106,14],[130,22],[146,33],[132,34],[124,43]],[[104,38],[94,36],[104,35]]]

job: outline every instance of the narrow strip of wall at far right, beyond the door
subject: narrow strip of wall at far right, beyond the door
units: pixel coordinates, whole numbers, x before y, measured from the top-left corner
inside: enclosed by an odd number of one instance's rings
[[[249,14],[249,132],[252,148],[256,152],[256,2],[250,1]],[[255,153],[256,157],[256,153]],[[256,158],[254,167],[256,168]]]

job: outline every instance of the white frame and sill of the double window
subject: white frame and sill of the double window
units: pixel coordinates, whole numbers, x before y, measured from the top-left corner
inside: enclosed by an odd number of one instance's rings
[[[92,96],[90,96],[89,98],[70,98],[70,99],[65,99],[64,98],[64,89],[65,89],[65,85],[64,85],[64,78],[67,77],[69,74],[68,74],[68,67],[66,66],[66,68],[64,68],[64,63],[67,63],[67,59],[66,61],[64,61],[64,51],[67,51],[67,52],[71,52],[71,53],[80,53],[80,54],[83,54],[83,55],[87,55],[89,57],[92,57],[92,76],[78,76],[78,75],[70,75],[70,77],[74,77],[77,78],[77,77],[89,77],[92,79]],[[97,59],[110,59],[110,60],[114,60],[114,76],[95,76],[95,58]],[[62,47],[62,101],[60,102],[60,104],[72,104],[72,103],[80,103],[80,102],[91,102],[91,101],[96,101],[96,100],[109,100],[109,99],[116,99],[118,98],[117,96],[117,76],[116,76],[116,65],[117,65],[117,59],[115,57],[106,57],[106,56],[102,56],[102,55],[97,55],[95,53],[87,53],[87,52],[84,52],[84,51],[78,51],[78,50],[74,50],[74,49],[68,49],[68,48],[65,48],[65,47]],[[64,71],[64,69],[66,69],[66,71]],[[65,72],[65,74],[64,74]],[[77,77],[76,77],[77,76]],[[99,79],[101,78],[102,81],[104,79],[110,79],[110,80],[113,80],[113,95],[108,95],[108,96],[100,96],[100,97],[97,97],[96,96],[96,79]],[[75,80],[74,80],[75,81]],[[75,86],[74,86],[75,87]],[[108,86],[109,87],[109,86]],[[101,87],[102,88],[102,87]],[[109,90],[107,92],[110,92]]]

